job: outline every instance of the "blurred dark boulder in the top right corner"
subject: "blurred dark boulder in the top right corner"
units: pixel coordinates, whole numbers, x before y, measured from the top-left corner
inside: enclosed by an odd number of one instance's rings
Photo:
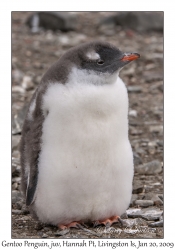
[[[162,12],[141,12],[141,11],[122,11],[115,15],[105,17],[99,26],[120,25],[124,29],[131,29],[137,32],[163,31]]]

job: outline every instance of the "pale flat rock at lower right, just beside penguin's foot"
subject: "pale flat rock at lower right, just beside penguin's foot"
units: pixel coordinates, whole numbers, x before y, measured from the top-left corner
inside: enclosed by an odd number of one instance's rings
[[[129,218],[142,218],[145,220],[155,221],[162,215],[162,211],[157,207],[148,208],[130,208],[126,211]]]

